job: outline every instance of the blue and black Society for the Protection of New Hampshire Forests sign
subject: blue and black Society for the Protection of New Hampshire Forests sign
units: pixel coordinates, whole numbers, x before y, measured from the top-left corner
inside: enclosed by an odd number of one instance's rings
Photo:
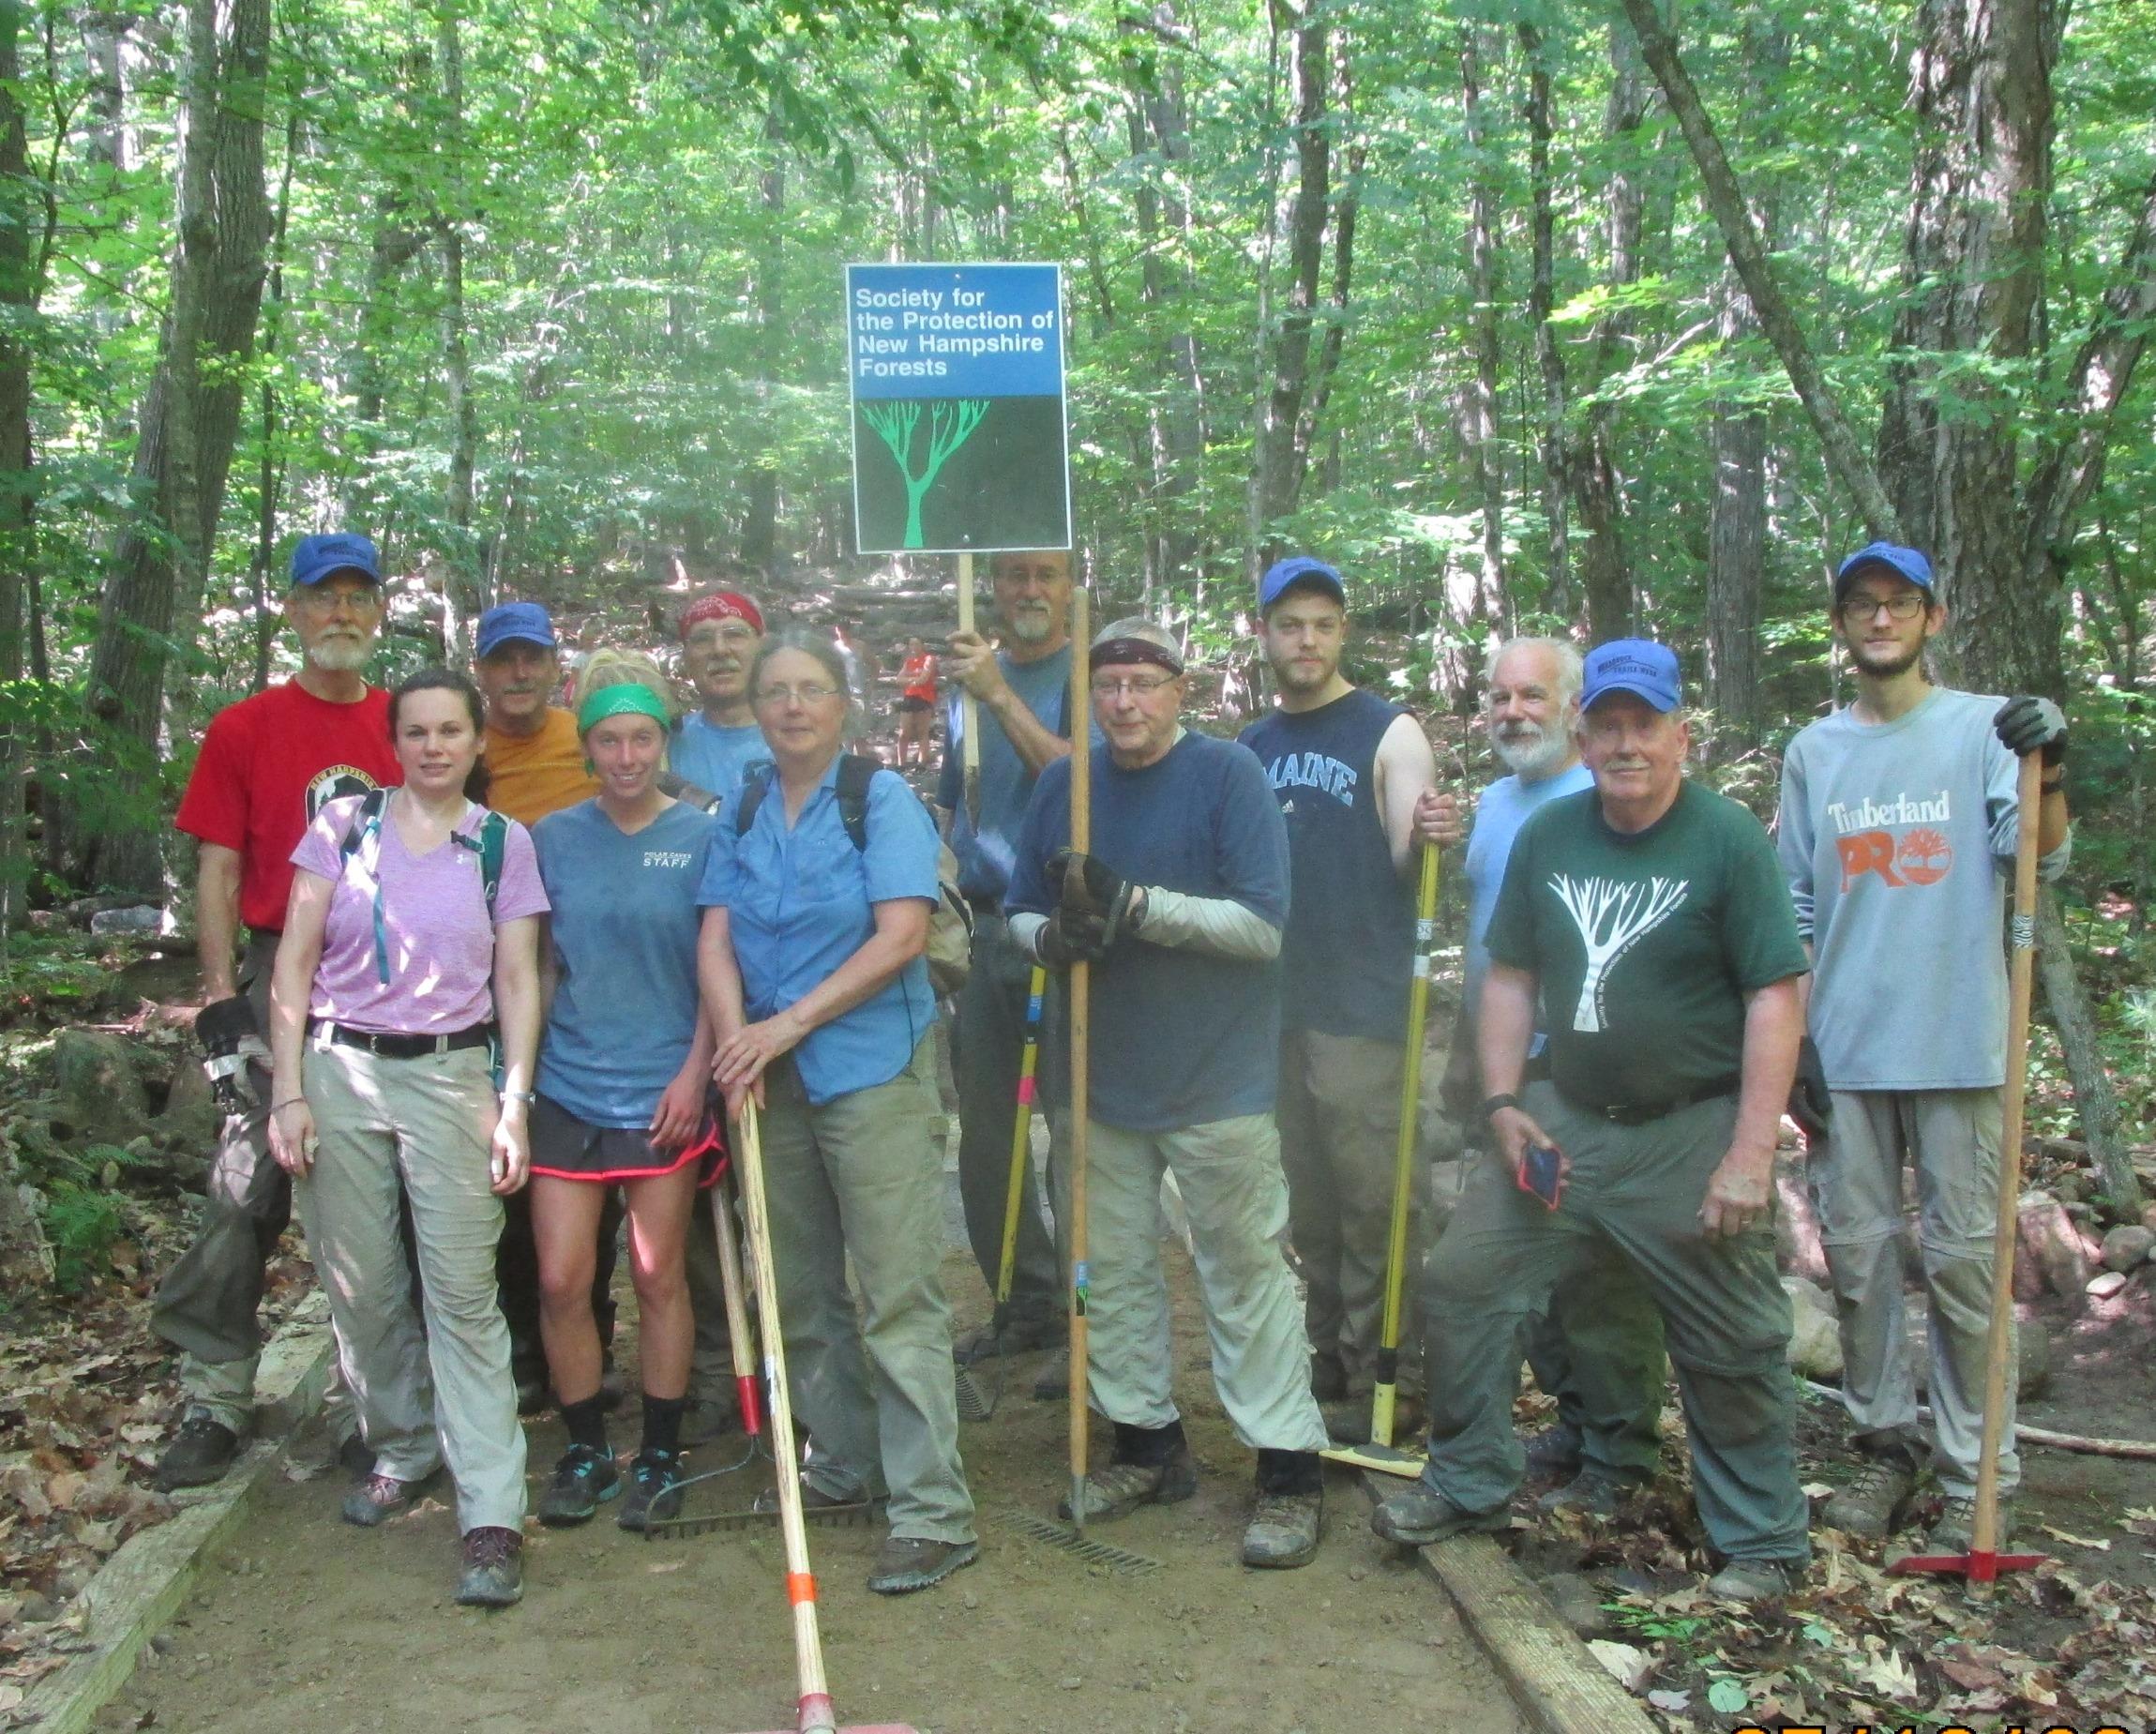
[[[847,265],[862,554],[1069,548],[1061,265]]]

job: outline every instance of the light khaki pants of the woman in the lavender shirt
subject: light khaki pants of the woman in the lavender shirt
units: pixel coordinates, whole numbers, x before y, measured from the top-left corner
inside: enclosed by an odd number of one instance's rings
[[[375,1473],[416,1482],[446,1456],[459,1529],[522,1529],[524,1430],[494,1279],[502,1201],[489,1188],[487,1050],[377,1059],[310,1042],[304,1089],[317,1150],[300,1208]],[[425,1333],[397,1242],[399,1184],[412,1201]]]

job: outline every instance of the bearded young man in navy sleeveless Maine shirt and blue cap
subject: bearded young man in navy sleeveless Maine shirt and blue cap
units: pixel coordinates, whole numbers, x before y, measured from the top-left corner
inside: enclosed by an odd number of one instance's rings
[[[1384,1324],[1393,1156],[1414,966],[1414,882],[1423,845],[1460,841],[1436,794],[1421,725],[1348,684],[1348,591],[1324,561],[1296,554],[1257,584],[1259,643],[1281,705],[1242,731],[1287,820],[1298,895],[1281,945],[1281,1167],[1289,1234],[1307,1283],[1311,1391],[1335,1439],[1369,1436],[1369,1391]],[[1423,1268],[1412,1188],[1408,1270]],[[1421,1398],[1414,1285],[1401,1318],[1401,1389]]]

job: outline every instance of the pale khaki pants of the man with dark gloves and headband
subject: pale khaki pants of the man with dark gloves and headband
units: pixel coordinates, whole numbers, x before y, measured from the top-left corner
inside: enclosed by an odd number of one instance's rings
[[[1214,1389],[1255,1449],[1322,1451],[1311,1339],[1283,1247],[1287,1182],[1272,1115],[1169,1132],[1087,1130],[1087,1380],[1093,1408],[1134,1428],[1177,1419],[1169,1283],[1160,1268],[1160,1175],[1190,1216]]]

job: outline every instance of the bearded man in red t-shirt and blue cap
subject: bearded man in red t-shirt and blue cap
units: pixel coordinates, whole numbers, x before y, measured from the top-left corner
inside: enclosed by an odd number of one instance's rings
[[[285,621],[300,638],[300,673],[211,718],[175,820],[201,841],[194,945],[209,1003],[198,1033],[211,1052],[252,1055],[241,1042],[270,1027],[270,966],[306,826],[328,800],[401,781],[388,692],[364,675],[382,628],[375,543],[302,537]],[[254,1419],[254,1313],[263,1264],[291,1221],[291,1178],[270,1158],[267,1050],[244,1081],[254,1100],[226,1106],[201,1229],[151,1311],[157,1335],[181,1350],[188,1387],[179,1436],[157,1462],[166,1490],[216,1482]]]

